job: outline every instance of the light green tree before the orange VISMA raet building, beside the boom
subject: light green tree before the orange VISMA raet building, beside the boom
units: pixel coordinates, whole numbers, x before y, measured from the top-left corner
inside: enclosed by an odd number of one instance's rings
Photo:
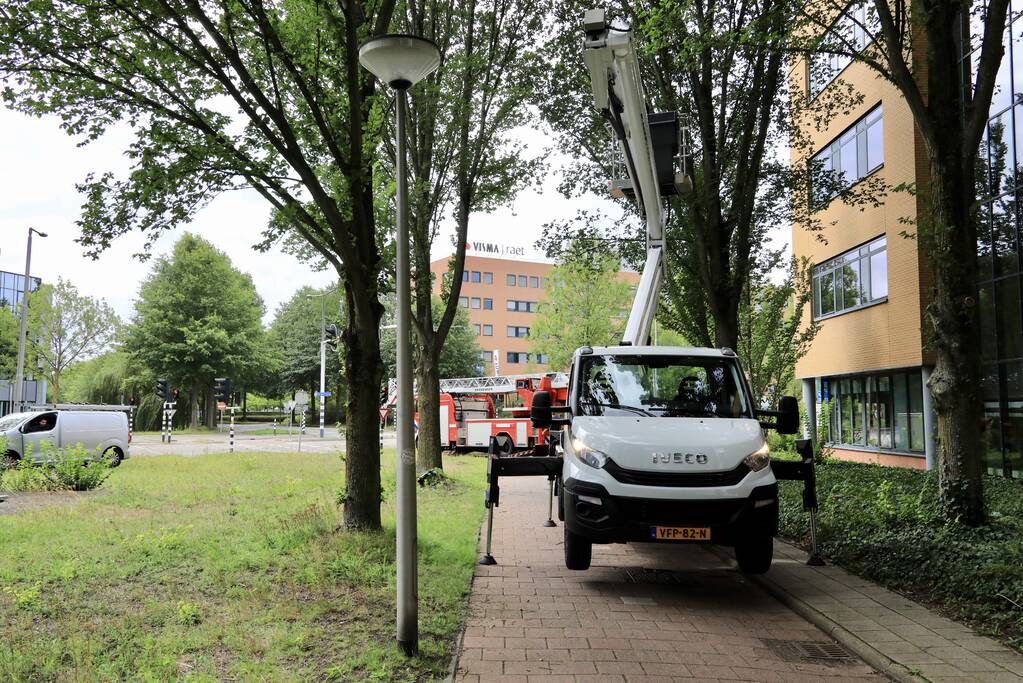
[[[530,351],[564,370],[579,347],[606,346],[625,328],[631,287],[618,279],[619,262],[585,240],[569,245],[547,279],[547,301],[530,327]]]

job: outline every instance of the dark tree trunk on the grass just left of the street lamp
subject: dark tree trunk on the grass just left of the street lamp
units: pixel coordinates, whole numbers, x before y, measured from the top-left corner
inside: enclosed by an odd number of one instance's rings
[[[343,332],[345,372],[348,376],[348,406],[345,411],[345,515],[348,529],[381,528],[381,452],[380,413],[381,376],[384,364],[380,354],[380,318],[377,303],[367,317],[357,324],[358,312],[351,292],[349,315]]]

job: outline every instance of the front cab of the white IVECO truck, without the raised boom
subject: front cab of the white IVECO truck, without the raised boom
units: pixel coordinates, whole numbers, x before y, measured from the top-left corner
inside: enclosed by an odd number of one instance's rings
[[[781,404],[756,408],[728,349],[578,350],[566,404],[540,397],[532,411],[561,427],[566,565],[588,568],[593,543],[714,543],[766,572],[779,507],[764,428],[798,425],[795,399]]]

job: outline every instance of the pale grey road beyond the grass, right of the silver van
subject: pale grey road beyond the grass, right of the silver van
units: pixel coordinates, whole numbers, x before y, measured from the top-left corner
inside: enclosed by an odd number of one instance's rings
[[[234,451],[236,453],[333,453],[344,450],[345,439],[338,436],[337,429],[327,428],[324,430],[323,439],[319,438],[319,427],[306,427],[306,435],[299,444],[299,429],[294,427],[288,436],[287,427],[278,428],[277,436],[258,435],[250,436],[247,431],[257,431],[265,429],[265,424],[235,425]],[[242,428],[244,427],[244,428]],[[384,447],[394,448],[395,439],[393,431],[384,434]],[[173,435],[170,444],[161,443],[160,435],[136,435],[132,438],[132,457],[147,455],[208,455],[210,453],[226,453],[228,450],[228,432],[212,434],[182,434]]]

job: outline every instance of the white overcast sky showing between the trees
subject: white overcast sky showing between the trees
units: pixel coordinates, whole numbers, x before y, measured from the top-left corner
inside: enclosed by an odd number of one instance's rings
[[[520,131],[530,153],[546,153],[552,140],[539,131]],[[72,281],[82,292],[105,300],[128,320],[150,262],[135,258],[144,240],[138,233],[115,240],[99,259],[84,256],[75,239],[82,197],[75,189],[88,173],[113,171],[123,175],[129,168],[122,155],[131,141],[127,130],[115,130],[97,141],[78,146],[58,126],[54,117],[37,119],[0,106],[0,270],[24,273],[28,228],[35,227],[46,238],[34,237],[32,274],[45,282],[58,277]],[[557,160],[557,155],[554,155]],[[475,216],[470,240],[486,240],[526,247],[527,255],[542,255],[533,244],[543,224],[575,215],[578,203],[554,189],[551,176],[540,189],[523,191],[508,208],[491,215]],[[610,201],[591,198],[617,212]],[[239,270],[253,276],[266,305],[268,322],[277,306],[302,286],[324,286],[336,276],[314,272],[281,252],[261,254],[252,248],[269,216],[268,204],[255,191],[228,192],[213,199],[190,225],[165,233],[151,253],[167,254],[186,231],[202,235],[230,257]],[[438,254],[450,253],[451,225],[444,226],[436,240]]]

